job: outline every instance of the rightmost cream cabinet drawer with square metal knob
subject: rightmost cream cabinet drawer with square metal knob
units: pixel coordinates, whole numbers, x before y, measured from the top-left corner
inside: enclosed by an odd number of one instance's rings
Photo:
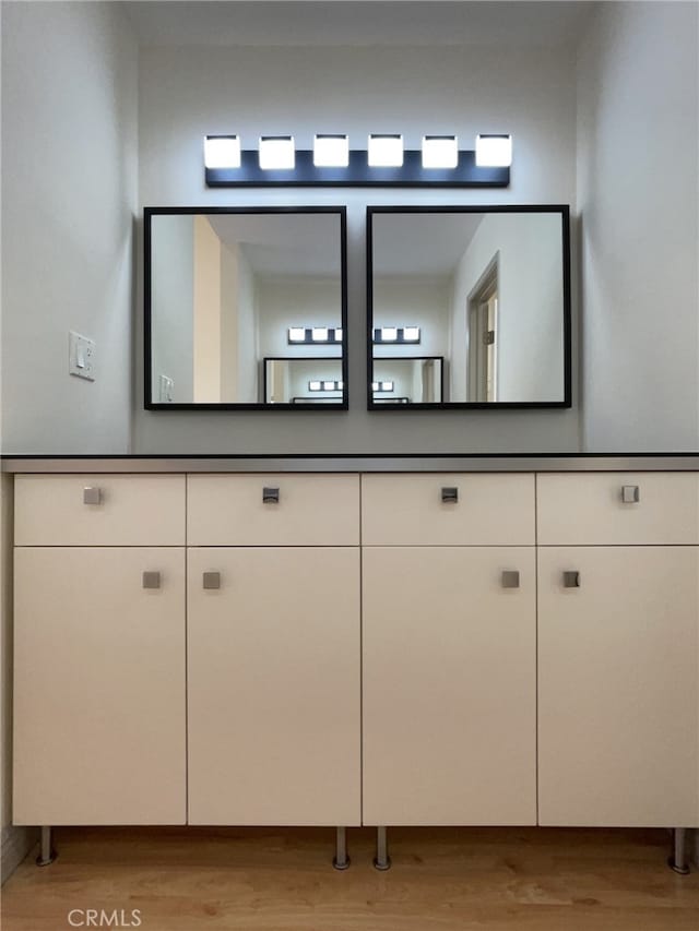
[[[536,505],[544,546],[699,544],[696,473],[540,475]]]

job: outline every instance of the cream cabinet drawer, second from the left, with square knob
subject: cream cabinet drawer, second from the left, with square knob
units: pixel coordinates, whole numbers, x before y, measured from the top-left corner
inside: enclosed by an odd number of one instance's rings
[[[359,477],[190,475],[190,546],[358,546]]]

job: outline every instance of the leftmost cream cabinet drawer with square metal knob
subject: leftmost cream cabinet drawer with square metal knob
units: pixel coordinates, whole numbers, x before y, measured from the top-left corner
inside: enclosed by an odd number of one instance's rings
[[[185,477],[19,475],[14,541],[16,546],[182,546]]]

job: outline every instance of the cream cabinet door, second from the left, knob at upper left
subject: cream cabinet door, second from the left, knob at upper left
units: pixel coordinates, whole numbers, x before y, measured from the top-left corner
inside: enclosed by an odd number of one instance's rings
[[[358,547],[188,562],[190,823],[359,824]]]

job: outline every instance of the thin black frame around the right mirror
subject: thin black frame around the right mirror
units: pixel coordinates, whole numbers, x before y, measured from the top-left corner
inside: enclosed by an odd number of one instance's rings
[[[374,372],[374,216],[375,214],[429,214],[429,213],[552,213],[561,219],[562,261],[562,323],[564,323],[564,398],[562,401],[442,401],[440,403],[390,404],[376,403],[371,392]],[[572,407],[572,322],[570,301],[570,207],[568,204],[463,204],[375,206],[366,208],[366,265],[367,265],[367,409],[368,410],[502,410]],[[443,394],[442,394],[443,397]]]

